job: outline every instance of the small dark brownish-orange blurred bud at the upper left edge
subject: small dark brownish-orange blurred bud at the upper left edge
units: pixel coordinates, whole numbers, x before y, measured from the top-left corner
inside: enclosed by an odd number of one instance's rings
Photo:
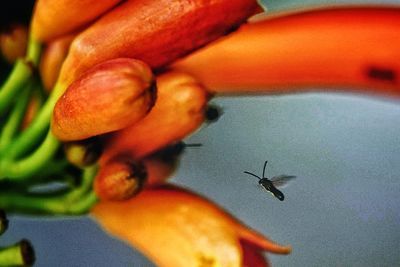
[[[10,64],[25,56],[27,43],[28,29],[24,25],[12,25],[7,31],[0,33],[0,51]]]

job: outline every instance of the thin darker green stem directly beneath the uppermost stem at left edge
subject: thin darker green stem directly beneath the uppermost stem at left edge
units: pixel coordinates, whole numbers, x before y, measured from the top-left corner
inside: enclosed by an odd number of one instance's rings
[[[12,138],[17,133],[25,115],[25,110],[29,102],[29,94],[30,88],[24,88],[17,99],[14,109],[11,111],[6,124],[2,128],[0,135],[0,148],[6,147],[11,143]]]

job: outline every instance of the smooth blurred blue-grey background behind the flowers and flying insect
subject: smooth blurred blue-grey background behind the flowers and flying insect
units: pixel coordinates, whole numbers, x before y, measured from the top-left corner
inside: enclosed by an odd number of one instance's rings
[[[271,12],[350,1],[264,1]],[[351,3],[399,3],[351,1]],[[323,88],[321,88],[323,91]],[[171,180],[216,201],[269,238],[291,244],[273,266],[399,266],[400,99],[305,93],[216,97],[220,120],[186,141]],[[267,174],[293,174],[278,201]],[[0,246],[32,241],[36,266],[154,266],[90,218],[12,217]]]

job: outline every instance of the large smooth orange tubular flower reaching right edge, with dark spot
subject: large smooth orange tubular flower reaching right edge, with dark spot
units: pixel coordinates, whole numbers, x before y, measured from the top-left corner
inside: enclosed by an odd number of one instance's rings
[[[177,62],[212,91],[318,85],[400,94],[400,8],[343,7],[266,18]]]

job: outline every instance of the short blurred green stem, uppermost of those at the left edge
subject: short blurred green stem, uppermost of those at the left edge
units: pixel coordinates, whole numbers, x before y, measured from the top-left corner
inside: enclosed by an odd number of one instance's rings
[[[0,88],[0,114],[3,114],[13,103],[13,99],[31,76],[31,66],[26,61],[18,59],[10,76]]]

